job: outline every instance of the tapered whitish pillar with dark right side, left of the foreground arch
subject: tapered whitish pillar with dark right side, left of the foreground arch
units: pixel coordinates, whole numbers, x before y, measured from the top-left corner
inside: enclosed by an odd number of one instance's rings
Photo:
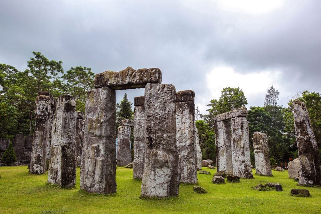
[[[76,101],[74,96],[57,98],[51,133],[48,183],[60,186],[76,184]]]

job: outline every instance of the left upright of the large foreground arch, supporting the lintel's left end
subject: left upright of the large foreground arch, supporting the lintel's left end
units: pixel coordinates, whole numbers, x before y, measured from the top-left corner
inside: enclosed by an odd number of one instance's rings
[[[85,140],[80,188],[90,193],[116,193],[116,93],[108,87],[86,97]]]

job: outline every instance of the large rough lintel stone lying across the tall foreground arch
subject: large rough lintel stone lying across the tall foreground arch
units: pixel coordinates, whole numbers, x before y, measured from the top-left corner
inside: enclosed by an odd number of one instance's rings
[[[144,88],[147,83],[161,83],[159,68],[142,68],[134,70],[131,67],[120,72],[105,71],[95,76],[95,88],[109,87],[114,90]]]

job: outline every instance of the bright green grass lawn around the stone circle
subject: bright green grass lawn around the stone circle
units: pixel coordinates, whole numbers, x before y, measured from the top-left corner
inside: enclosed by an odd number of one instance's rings
[[[140,198],[141,181],[133,180],[133,169],[116,170],[117,193],[92,196],[76,188],[46,185],[48,174],[31,175],[26,166],[0,167],[0,213],[320,213],[321,188],[299,187],[288,172],[273,170],[273,177],[255,175],[239,183],[212,184],[212,175],[198,174],[198,185],[206,194],[193,192],[194,184],[180,184],[179,196],[165,199]],[[225,179],[226,180],[226,179]],[[267,182],[282,184],[283,192],[251,188]],[[293,188],[310,191],[311,197],[290,196]]]

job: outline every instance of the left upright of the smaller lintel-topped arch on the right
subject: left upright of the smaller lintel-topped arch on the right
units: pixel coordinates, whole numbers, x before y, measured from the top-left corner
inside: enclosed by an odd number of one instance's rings
[[[218,171],[233,174],[230,123],[228,121],[217,122],[214,124],[214,129],[216,168]]]

